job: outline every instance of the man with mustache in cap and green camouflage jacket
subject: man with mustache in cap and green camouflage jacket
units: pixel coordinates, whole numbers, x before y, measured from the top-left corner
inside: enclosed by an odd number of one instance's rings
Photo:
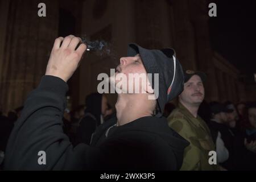
[[[179,104],[167,119],[168,125],[190,142],[184,150],[180,170],[216,170],[216,164],[209,164],[209,151],[215,151],[210,130],[197,114],[204,100],[203,82],[206,75],[187,70],[184,77],[184,90],[179,95]]]

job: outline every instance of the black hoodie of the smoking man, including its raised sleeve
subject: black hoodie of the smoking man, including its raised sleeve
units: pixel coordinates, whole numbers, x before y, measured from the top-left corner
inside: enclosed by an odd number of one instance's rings
[[[73,147],[62,129],[67,90],[60,78],[42,77],[15,122],[5,169],[179,169],[188,142],[169,129],[163,118],[140,118],[117,127],[118,132],[102,143],[95,139],[93,146]],[[40,163],[43,156],[45,164]]]

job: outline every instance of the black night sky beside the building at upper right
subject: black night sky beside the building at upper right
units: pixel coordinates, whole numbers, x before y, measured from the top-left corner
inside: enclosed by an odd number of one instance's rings
[[[214,50],[242,74],[256,73],[256,1],[214,1],[217,17],[210,18]]]

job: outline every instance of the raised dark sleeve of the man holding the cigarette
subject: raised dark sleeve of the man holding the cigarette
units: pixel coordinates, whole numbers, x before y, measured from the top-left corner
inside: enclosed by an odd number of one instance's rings
[[[87,169],[92,147],[73,148],[63,133],[63,112],[68,85],[58,77],[43,76],[27,97],[6,148],[5,169]],[[46,154],[46,164],[39,151]],[[90,158],[88,157],[90,156]]]

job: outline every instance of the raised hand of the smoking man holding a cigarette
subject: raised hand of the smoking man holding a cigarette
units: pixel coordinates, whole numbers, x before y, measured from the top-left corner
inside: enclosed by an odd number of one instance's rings
[[[76,49],[79,43],[81,43],[81,39],[73,35],[55,39],[46,75],[56,76],[67,82],[76,71],[86,50],[86,45],[83,43]]]

